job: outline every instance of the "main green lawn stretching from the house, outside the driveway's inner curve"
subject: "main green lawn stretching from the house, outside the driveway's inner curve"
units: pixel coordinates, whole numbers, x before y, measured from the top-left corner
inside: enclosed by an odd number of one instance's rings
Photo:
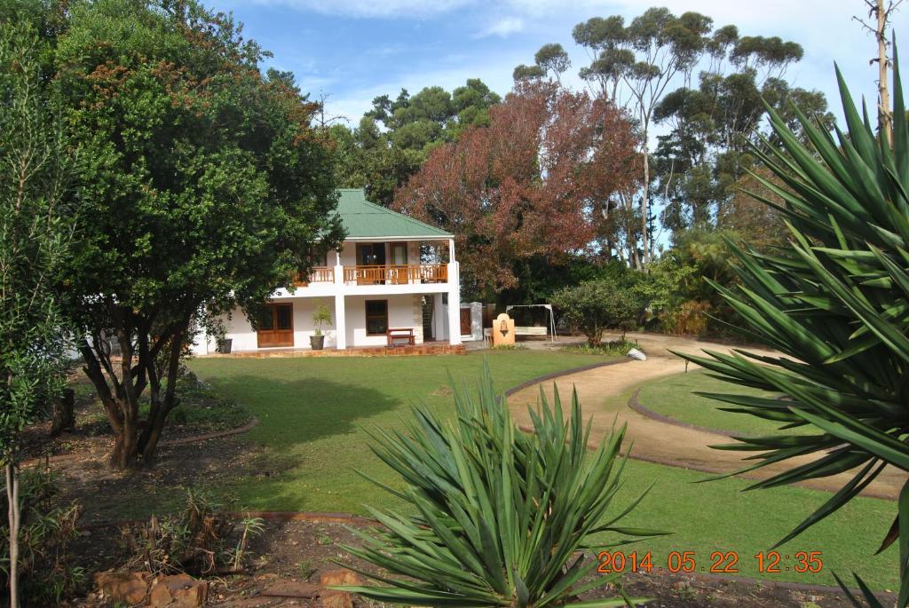
[[[486,354],[498,387],[535,375],[590,364],[590,355],[529,350]],[[369,451],[364,429],[394,426],[411,404],[445,412],[452,407],[447,374],[473,383],[480,354],[413,358],[197,359],[191,366],[205,381],[244,404],[261,421],[249,440],[265,446],[259,473],[229,488],[245,506],[273,510],[364,513],[363,504],[399,506],[355,471],[398,485]],[[691,374],[689,374],[691,375]],[[675,393],[675,397],[684,397]],[[648,406],[652,403],[644,401]],[[654,565],[670,551],[694,551],[698,569],[709,568],[714,551],[739,554],[740,575],[759,576],[754,554],[776,540],[824,502],[829,494],[802,488],[742,493],[746,483],[704,477],[651,463],[632,461],[626,469],[624,499],[651,483],[653,491],[626,525],[659,528],[673,535],[647,541]],[[780,553],[823,552],[824,570],[790,570],[764,578],[831,584],[832,573],[861,573],[874,588],[894,588],[896,552],[874,557],[894,516],[894,503],[859,499]],[[785,563],[782,564],[785,567]]]

